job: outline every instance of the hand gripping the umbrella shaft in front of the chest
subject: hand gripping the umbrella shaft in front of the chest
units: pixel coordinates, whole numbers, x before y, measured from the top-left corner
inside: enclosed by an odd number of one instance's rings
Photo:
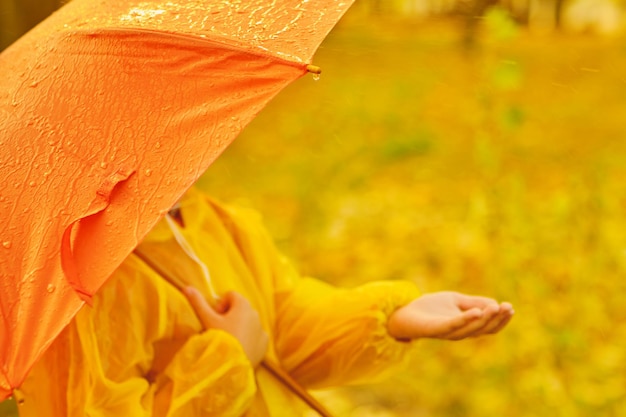
[[[259,313],[243,295],[228,292],[213,309],[197,289],[187,287],[184,293],[205,329],[221,329],[233,335],[252,366],[263,360],[269,338],[261,326]]]

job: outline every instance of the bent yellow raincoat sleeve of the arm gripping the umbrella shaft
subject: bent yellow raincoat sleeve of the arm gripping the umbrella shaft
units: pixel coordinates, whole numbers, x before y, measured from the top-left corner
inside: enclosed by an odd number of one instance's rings
[[[68,403],[76,415],[151,416],[155,393],[171,382],[168,417],[240,416],[256,391],[237,340],[202,332],[185,297],[132,257],[73,326]]]

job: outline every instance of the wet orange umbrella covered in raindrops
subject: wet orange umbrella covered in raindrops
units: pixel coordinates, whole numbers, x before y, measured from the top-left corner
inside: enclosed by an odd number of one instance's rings
[[[352,0],[74,0],[0,54],[0,400]]]

